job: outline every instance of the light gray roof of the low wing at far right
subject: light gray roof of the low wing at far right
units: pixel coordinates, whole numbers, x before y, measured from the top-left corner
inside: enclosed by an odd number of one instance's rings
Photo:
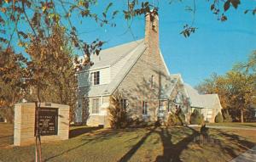
[[[199,94],[193,87],[185,83],[184,87],[188,92],[191,107],[213,108],[218,101],[218,94]]]

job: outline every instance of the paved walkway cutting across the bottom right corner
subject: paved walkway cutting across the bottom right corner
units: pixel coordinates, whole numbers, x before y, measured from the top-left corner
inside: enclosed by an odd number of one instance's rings
[[[247,152],[232,159],[230,162],[256,162],[256,146],[248,149]]]

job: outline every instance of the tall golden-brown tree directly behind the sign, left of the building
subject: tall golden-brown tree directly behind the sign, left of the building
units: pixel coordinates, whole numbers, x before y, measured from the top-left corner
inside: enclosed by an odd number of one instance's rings
[[[73,120],[78,87],[77,67],[73,64],[73,59],[76,56],[73,54],[71,42],[65,35],[63,27],[56,25],[50,31],[52,36],[39,44],[40,55],[36,53],[38,47],[35,42],[32,42],[26,49],[31,56],[31,61],[28,64],[32,65],[27,83],[31,85],[32,89],[39,89],[38,96],[41,102],[69,105],[70,117]],[[33,81],[38,80],[42,81],[39,82],[39,85],[33,84]],[[32,101],[37,100],[37,98],[32,98],[34,93],[28,95]]]

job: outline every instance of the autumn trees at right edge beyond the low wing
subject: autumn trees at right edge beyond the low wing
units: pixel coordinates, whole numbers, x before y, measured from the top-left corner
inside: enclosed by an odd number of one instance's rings
[[[246,63],[238,63],[224,75],[212,74],[196,89],[201,93],[218,93],[225,116],[233,121],[250,121],[255,118],[256,104],[256,51]]]

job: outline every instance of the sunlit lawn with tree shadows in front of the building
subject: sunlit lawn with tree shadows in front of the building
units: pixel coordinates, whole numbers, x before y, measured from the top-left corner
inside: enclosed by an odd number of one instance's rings
[[[1,137],[3,129],[8,126],[0,124]],[[229,161],[256,142],[256,131],[211,129],[212,142],[202,144],[197,141],[198,130],[183,126],[125,130],[82,126],[73,127],[71,134],[69,140],[44,143],[44,161]],[[0,161],[33,157],[34,146],[0,148]]]

